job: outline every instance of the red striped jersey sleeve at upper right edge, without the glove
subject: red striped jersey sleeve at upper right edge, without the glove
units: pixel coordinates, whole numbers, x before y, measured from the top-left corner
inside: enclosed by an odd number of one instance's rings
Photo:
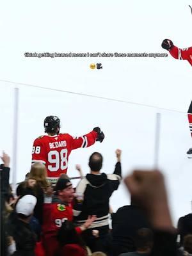
[[[173,46],[173,48],[170,50],[170,54],[175,59],[188,60],[192,66],[192,47],[180,49],[176,46]]]

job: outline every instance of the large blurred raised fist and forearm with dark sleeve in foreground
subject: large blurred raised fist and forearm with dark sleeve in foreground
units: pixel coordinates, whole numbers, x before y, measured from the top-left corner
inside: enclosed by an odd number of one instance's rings
[[[172,223],[163,174],[158,170],[135,170],[125,178],[125,184],[152,226],[154,243],[150,256],[176,256],[177,232]]]

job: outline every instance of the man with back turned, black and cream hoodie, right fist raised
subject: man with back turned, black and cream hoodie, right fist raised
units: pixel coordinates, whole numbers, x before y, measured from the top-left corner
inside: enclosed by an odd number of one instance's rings
[[[107,252],[109,239],[109,198],[113,191],[118,189],[122,179],[122,168],[120,163],[121,150],[116,150],[117,163],[113,174],[100,173],[102,168],[102,155],[94,152],[89,159],[91,173],[88,173],[79,184],[77,184],[77,202],[74,205],[74,216],[77,225],[83,224],[89,215],[96,215],[97,220],[84,232],[84,241],[92,252],[102,250]],[[99,230],[99,240],[95,239],[92,231]],[[97,243],[95,243],[97,240]],[[97,244],[97,246],[95,246]],[[100,244],[100,246],[99,246]],[[95,248],[96,247],[96,248]],[[110,247],[110,246],[109,246]]]

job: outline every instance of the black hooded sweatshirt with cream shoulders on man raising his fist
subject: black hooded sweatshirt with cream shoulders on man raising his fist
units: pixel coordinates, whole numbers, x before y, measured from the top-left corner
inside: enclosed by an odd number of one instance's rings
[[[117,162],[113,174],[89,173],[79,182],[76,193],[83,194],[83,202],[74,205],[74,216],[79,225],[89,215],[97,215],[93,227],[108,225],[109,198],[118,189],[121,178],[122,168],[120,162]]]

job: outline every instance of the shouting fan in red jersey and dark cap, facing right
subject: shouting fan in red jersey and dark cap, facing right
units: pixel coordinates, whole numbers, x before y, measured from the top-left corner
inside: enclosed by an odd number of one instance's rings
[[[65,221],[73,220],[72,200],[74,199],[74,189],[72,188],[72,183],[70,182],[70,180],[66,178],[60,178],[56,183],[54,191],[55,194],[54,196],[52,196],[51,204],[44,204],[42,243],[44,245],[46,256],[68,255],[64,253],[67,248],[65,248],[65,246],[60,246],[59,241],[64,241],[65,238],[63,237],[62,231],[63,223],[65,223]],[[97,216],[95,215],[88,216],[88,219],[85,221],[85,223],[83,223],[79,227],[76,227],[73,233],[70,232],[68,241],[70,239],[72,240],[73,236],[77,236],[77,234],[81,234],[81,232],[89,228],[90,225],[92,225],[93,221],[95,221],[96,219]],[[61,237],[63,237],[63,239]],[[74,243],[76,244],[77,241],[78,239],[76,238],[76,241]],[[68,250],[72,250],[72,248],[68,248]]]

